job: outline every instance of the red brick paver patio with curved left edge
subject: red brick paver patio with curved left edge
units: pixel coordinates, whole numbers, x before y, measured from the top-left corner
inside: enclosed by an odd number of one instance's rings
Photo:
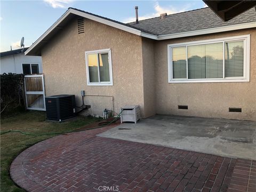
[[[107,129],[37,143],[14,159],[12,179],[27,191],[256,189],[255,161],[97,137]]]

